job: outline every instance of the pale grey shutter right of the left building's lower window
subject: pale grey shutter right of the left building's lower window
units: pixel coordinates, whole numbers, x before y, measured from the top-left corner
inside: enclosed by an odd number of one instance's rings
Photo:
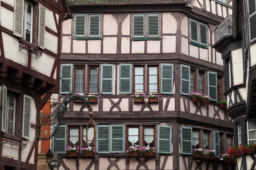
[[[31,100],[32,100],[32,98],[30,96],[27,96],[24,94],[24,96],[23,96],[22,137],[25,139],[29,139]]]

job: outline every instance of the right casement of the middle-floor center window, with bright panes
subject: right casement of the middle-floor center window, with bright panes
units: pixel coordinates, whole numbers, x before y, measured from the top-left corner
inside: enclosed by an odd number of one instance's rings
[[[148,67],[148,93],[158,93],[158,67]]]

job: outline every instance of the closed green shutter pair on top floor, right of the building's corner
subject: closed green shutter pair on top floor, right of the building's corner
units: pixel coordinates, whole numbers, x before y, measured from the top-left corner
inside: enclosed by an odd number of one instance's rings
[[[193,45],[198,45],[207,48],[208,27],[207,24],[201,23],[197,20],[190,19],[190,41]]]

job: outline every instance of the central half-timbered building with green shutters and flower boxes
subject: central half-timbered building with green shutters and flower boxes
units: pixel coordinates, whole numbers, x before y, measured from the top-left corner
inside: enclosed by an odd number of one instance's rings
[[[232,2],[74,0],[69,5],[74,19],[62,26],[64,81],[55,99],[70,93],[99,99],[91,103],[96,129],[89,133],[86,105],[70,102],[52,139],[55,169],[233,170],[234,164],[192,155],[202,148],[219,157],[234,143],[233,119],[217,104],[225,100],[223,60],[211,48],[216,26],[232,14]],[[192,91],[211,96],[210,104],[192,101]],[[134,101],[144,93],[158,95],[158,102]],[[52,100],[52,110],[58,100]],[[97,154],[65,154],[68,146],[87,147],[86,138]],[[126,150],[132,143],[155,147],[156,153],[130,157]]]

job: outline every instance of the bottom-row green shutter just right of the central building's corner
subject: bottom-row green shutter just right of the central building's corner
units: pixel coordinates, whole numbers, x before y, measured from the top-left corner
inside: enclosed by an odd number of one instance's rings
[[[180,127],[181,132],[181,154],[190,155],[192,153],[192,127]]]

